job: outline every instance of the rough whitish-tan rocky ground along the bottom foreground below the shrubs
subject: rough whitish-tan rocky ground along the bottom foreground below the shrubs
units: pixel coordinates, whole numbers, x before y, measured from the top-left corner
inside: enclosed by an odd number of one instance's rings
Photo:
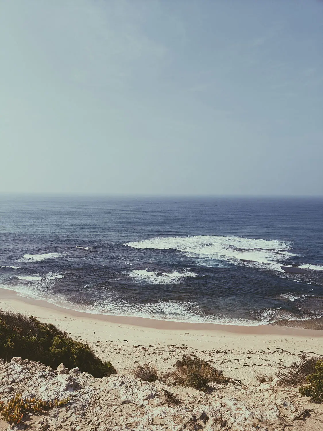
[[[26,422],[30,430],[273,431],[291,425],[295,430],[322,429],[320,406],[309,408],[296,390],[286,392],[275,380],[248,387],[217,385],[204,393],[118,374],[93,378],[78,369],[68,372],[63,364],[53,370],[21,358],[0,360],[0,399],[6,402],[17,392],[43,400],[71,397],[62,408],[31,416]],[[170,405],[169,393],[180,400],[179,405]],[[8,427],[18,430],[25,425],[0,420],[0,430]]]

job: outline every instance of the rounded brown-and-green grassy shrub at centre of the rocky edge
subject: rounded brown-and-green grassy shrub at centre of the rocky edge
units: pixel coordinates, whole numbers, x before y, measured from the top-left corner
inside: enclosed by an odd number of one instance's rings
[[[224,377],[222,370],[217,370],[203,359],[183,356],[176,361],[176,370],[171,374],[176,384],[193,387],[198,390],[208,389],[210,382],[229,383],[231,378]]]

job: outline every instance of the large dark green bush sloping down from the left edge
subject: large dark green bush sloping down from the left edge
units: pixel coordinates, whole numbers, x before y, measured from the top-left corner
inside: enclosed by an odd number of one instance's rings
[[[6,361],[21,356],[52,368],[63,363],[94,377],[116,373],[111,362],[102,362],[86,344],[68,337],[52,323],[42,323],[18,312],[0,310],[0,353]]]

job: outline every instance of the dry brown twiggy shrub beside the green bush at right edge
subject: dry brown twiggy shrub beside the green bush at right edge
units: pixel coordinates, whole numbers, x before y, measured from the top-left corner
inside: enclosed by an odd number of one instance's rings
[[[317,361],[323,359],[321,356],[307,356],[302,353],[299,359],[292,362],[289,367],[280,367],[276,372],[279,378],[279,386],[299,386],[307,382],[306,377],[315,372]]]

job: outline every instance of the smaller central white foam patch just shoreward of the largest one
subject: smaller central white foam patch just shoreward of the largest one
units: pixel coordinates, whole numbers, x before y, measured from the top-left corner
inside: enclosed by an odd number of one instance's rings
[[[130,272],[130,277],[133,277],[135,281],[149,284],[179,284],[186,277],[196,276],[195,272],[187,270],[183,272],[156,272],[147,269],[134,269]]]

